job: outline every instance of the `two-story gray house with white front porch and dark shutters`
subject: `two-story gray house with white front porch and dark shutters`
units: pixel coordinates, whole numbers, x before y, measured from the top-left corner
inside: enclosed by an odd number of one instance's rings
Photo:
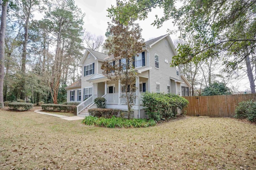
[[[170,67],[172,57],[177,55],[168,34],[145,42],[142,53],[135,57],[136,92],[134,96],[134,118],[145,117],[141,102],[144,92],[173,93],[189,96],[188,80],[180,74],[180,68]],[[86,114],[86,109],[95,108],[94,99],[106,98],[106,108],[127,110],[124,87],[120,81],[110,81],[101,69],[104,61],[111,62],[108,55],[86,49],[79,64],[82,67],[81,80],[66,87],[67,102],[81,102],[78,115]],[[85,110],[85,111],[84,111]]]

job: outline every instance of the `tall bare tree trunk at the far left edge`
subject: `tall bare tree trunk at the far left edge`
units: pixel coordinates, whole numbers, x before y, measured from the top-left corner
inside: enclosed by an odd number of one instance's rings
[[[4,48],[6,33],[6,16],[7,16],[8,0],[2,2],[2,16],[0,27],[0,107],[4,107]]]

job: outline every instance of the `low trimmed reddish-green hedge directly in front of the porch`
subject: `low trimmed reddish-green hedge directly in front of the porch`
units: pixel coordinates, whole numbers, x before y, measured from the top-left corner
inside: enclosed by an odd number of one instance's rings
[[[90,115],[94,117],[105,117],[105,118],[111,118],[112,116],[118,117],[121,113],[121,110],[119,109],[89,109],[88,112]]]

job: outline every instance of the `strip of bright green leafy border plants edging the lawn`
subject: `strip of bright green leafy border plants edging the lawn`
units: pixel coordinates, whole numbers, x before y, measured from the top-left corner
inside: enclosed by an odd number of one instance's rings
[[[108,128],[138,128],[155,126],[156,121],[153,119],[126,119],[112,116],[111,118],[87,116],[82,121],[85,125],[94,125]]]

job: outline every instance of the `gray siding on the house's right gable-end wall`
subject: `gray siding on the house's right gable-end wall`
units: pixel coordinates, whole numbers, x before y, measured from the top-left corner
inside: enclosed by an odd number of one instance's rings
[[[167,93],[167,85],[169,84],[171,85],[171,92],[176,94],[175,82],[171,83],[170,77],[180,80],[180,76],[176,75],[176,67],[170,67],[174,52],[169,43],[167,43],[166,47],[165,41],[168,42],[168,39],[162,39],[149,49],[150,67],[152,67],[150,70],[150,91],[156,92],[156,82],[158,82],[160,83],[160,92]],[[159,56],[159,69],[155,68],[155,54]]]

